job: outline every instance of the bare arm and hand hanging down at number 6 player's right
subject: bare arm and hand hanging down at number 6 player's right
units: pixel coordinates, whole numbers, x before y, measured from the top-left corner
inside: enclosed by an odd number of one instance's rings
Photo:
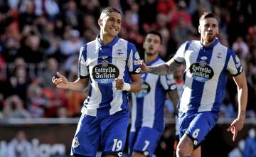
[[[233,77],[235,84],[238,87],[238,117],[228,127],[228,131],[233,133],[233,141],[245,123],[245,112],[247,106],[247,81],[245,72],[241,72],[240,75]]]

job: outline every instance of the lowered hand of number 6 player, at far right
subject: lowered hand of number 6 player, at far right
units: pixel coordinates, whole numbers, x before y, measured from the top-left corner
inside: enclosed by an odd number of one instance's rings
[[[232,124],[228,127],[227,131],[231,131],[233,134],[233,141],[235,141],[236,137],[238,136],[238,131],[242,130],[242,127],[245,123],[245,118],[237,118],[235,119]]]

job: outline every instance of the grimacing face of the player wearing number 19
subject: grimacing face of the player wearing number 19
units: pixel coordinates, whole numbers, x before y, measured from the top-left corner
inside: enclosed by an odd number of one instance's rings
[[[109,15],[99,20],[99,25],[104,36],[117,36],[121,29],[121,23],[121,15],[116,12],[111,12]]]

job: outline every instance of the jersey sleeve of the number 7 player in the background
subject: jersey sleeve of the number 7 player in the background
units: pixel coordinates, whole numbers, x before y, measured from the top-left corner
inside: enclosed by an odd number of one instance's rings
[[[164,90],[177,90],[177,85],[174,80],[174,75],[161,75],[160,76],[161,85],[164,87]]]

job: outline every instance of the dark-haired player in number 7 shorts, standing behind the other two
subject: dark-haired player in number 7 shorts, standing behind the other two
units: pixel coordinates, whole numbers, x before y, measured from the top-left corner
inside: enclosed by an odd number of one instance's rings
[[[164,63],[159,58],[161,34],[149,31],[143,43],[147,65]],[[142,73],[142,91],[132,93],[132,126],[129,133],[129,156],[153,156],[164,131],[164,102],[166,93],[178,103],[173,75]]]

